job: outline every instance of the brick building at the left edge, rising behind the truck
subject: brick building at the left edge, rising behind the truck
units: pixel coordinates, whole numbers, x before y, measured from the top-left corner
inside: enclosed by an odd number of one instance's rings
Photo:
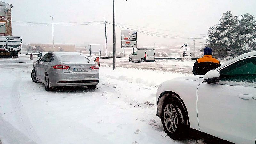
[[[0,1],[0,36],[12,36],[12,4]]]

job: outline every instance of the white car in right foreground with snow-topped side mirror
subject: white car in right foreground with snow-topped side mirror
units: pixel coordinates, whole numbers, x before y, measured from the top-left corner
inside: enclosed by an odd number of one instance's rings
[[[172,139],[195,129],[233,143],[256,143],[256,52],[205,75],[159,85],[156,115]]]

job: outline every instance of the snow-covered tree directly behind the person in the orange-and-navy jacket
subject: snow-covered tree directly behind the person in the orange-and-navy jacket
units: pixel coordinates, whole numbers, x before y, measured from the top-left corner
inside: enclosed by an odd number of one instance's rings
[[[223,14],[219,23],[208,31],[208,47],[212,48],[212,55],[218,58],[227,56],[228,48],[231,51],[235,49],[236,38],[238,33],[236,31],[237,19],[232,16],[230,11]]]

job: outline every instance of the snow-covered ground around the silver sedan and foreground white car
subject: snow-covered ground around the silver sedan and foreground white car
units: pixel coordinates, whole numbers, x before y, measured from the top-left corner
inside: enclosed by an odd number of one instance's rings
[[[31,80],[32,61],[0,64],[0,139],[22,143],[202,143],[174,141],[155,114],[159,84],[191,74],[100,67],[100,83],[47,92]]]

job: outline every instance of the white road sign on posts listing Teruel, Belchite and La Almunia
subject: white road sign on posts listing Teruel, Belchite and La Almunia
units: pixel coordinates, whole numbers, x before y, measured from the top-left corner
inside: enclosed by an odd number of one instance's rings
[[[132,48],[132,52],[134,52],[134,48],[137,48],[137,32],[121,30],[121,47],[123,49]]]

